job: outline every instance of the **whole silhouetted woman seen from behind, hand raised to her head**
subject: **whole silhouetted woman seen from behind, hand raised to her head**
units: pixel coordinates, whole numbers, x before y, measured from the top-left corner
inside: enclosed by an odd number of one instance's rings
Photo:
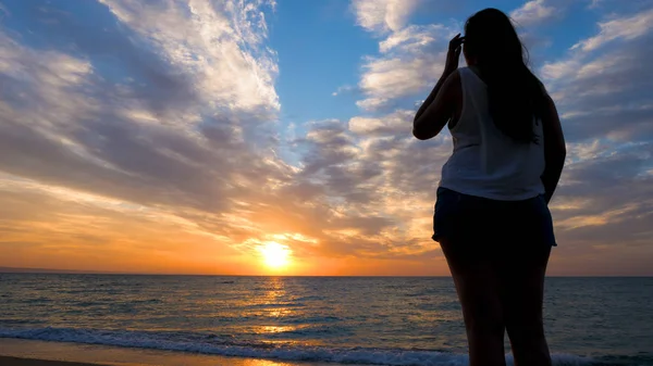
[[[460,50],[468,67],[458,68]],[[444,74],[414,121],[420,140],[448,123],[433,240],[448,263],[470,365],[551,365],[542,321],[544,275],[556,245],[547,204],[565,161],[553,100],[530,72],[506,14],[485,9],[449,42]]]

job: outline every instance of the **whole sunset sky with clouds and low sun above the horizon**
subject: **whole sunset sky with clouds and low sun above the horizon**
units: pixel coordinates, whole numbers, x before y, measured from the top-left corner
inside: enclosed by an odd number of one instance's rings
[[[0,0],[0,266],[447,275],[412,115],[489,3],[566,132],[550,274],[653,275],[646,0]]]

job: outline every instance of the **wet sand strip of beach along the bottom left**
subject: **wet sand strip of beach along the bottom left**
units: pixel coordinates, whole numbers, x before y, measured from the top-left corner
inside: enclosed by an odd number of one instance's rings
[[[0,338],[2,366],[334,366],[175,351]]]

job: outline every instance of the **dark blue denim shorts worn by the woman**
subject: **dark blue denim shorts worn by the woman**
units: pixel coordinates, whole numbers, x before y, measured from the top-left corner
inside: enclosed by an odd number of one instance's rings
[[[435,241],[557,245],[544,195],[522,201],[498,201],[440,187],[433,232]]]

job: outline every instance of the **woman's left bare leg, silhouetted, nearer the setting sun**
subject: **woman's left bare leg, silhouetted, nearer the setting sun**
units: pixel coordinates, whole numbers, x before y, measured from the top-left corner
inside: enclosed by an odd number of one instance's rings
[[[440,244],[463,306],[469,365],[504,366],[505,326],[495,264],[466,250],[465,243],[441,240]]]

